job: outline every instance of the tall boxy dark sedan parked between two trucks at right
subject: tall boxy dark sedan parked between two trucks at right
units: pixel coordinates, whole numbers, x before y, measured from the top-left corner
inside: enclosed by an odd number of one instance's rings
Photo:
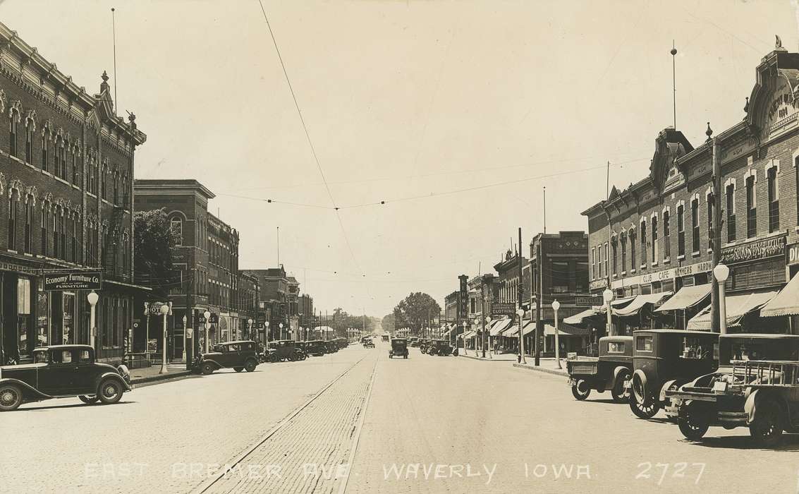
[[[633,374],[624,387],[630,410],[650,419],[668,406],[667,389],[677,389],[718,367],[718,333],[686,329],[633,332]]]

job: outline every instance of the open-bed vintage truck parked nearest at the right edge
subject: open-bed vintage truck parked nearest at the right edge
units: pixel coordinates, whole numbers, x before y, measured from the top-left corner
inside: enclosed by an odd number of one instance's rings
[[[683,436],[699,440],[711,425],[749,427],[758,446],[799,432],[799,336],[724,334],[715,372],[666,392]]]

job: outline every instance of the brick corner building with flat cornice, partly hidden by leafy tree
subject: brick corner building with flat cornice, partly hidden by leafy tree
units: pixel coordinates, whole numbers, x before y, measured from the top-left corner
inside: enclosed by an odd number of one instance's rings
[[[173,251],[176,273],[165,274],[172,281],[168,300],[173,304],[169,325],[173,328],[174,355],[179,357],[183,351],[184,316],[189,328],[200,329],[196,339],[200,348],[205,346],[206,311],[212,314],[210,344],[239,337],[239,234],[209,213],[208,201],[214,194],[193,179],[136,180],[134,192],[137,209],[165,209],[181,239]],[[152,332],[149,336],[153,337]],[[145,331],[142,329],[133,339],[144,345]]]

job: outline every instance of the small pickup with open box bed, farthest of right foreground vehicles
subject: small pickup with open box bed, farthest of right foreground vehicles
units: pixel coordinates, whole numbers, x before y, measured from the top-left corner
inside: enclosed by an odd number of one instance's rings
[[[599,357],[566,361],[571,394],[585,400],[594,389],[610,391],[616,403],[626,402],[624,382],[633,372],[633,337],[599,338]]]

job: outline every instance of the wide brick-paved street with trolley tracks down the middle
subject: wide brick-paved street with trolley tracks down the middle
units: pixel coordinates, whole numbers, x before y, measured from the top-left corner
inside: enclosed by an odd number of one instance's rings
[[[799,448],[797,436],[758,450],[749,449],[745,428],[713,428],[692,444],[662,412],[638,420],[610,396],[575,401],[561,376],[418,349],[388,359],[387,349],[352,345],[251,374],[141,386],[116,405],[24,405],[3,414],[3,443],[33,447],[4,448],[0,490],[797,488],[797,468],[785,457]]]

